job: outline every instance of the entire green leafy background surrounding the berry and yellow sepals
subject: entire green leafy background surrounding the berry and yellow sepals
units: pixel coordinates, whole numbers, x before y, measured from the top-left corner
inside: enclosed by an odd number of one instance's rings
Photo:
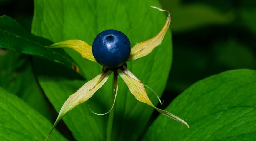
[[[80,39],[92,45],[99,32],[117,29],[134,46],[154,36],[166,19],[150,5],[170,11],[170,31],[149,56],[128,68],[162,95],[160,105],[147,90],[157,107],[191,128],[139,103],[119,79],[109,133],[108,115],[94,115],[87,104],[97,113],[109,109],[110,79],[65,115],[49,140],[106,140],[110,135],[112,140],[255,140],[256,2],[249,0],[0,0],[0,16],[6,14],[25,28],[11,18],[0,19],[0,140],[44,140],[68,96],[101,70],[75,51],[54,50],[60,56],[51,56],[52,50],[38,50],[28,39],[41,45]],[[80,74],[72,70],[74,63]]]

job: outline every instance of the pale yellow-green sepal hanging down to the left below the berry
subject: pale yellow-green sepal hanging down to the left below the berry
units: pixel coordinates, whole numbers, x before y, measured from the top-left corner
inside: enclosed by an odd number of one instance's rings
[[[66,102],[61,107],[59,115],[49,133],[51,134],[54,127],[58,124],[61,118],[68,113],[70,110],[75,108],[77,105],[84,103],[86,100],[92,97],[92,95],[108,80],[112,71],[108,71],[106,74],[104,72],[100,73],[98,76],[92,80],[85,83],[79,90],[69,96]],[[104,73],[104,74],[103,74]],[[49,137],[49,135],[46,137]]]

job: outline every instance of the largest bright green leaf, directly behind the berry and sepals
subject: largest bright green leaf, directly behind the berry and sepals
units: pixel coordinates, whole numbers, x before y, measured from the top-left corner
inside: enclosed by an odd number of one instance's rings
[[[32,32],[54,42],[80,39],[92,45],[98,33],[106,29],[116,29],[126,34],[134,46],[156,35],[166,21],[166,14],[150,8],[150,5],[160,6],[155,0],[36,0]],[[167,32],[162,44],[150,55],[127,64],[128,69],[137,78],[159,95],[164,90],[171,66],[171,43],[170,32]],[[99,64],[83,59],[74,51],[66,51],[81,66],[87,80],[100,73],[102,66]],[[68,96],[82,86],[82,82],[65,78],[65,75],[59,77],[43,74],[43,71],[53,71],[47,68],[47,65],[42,69],[39,69],[39,83],[55,109],[59,111]],[[63,73],[69,75],[68,72]],[[88,101],[95,112],[104,113],[111,107],[111,83],[110,79]],[[156,104],[155,95],[150,91],[148,95]],[[153,110],[150,106],[139,103],[124,82],[119,80],[112,140],[136,140],[144,130]],[[106,140],[107,121],[108,115],[93,115],[86,103],[79,105],[64,117],[64,122],[77,140]]]

